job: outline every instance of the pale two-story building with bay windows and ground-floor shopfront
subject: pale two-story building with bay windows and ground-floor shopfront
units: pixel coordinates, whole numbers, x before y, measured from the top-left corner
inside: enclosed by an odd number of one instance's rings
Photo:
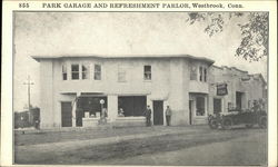
[[[41,128],[93,126],[107,108],[110,122],[206,122],[214,60],[188,55],[33,56],[40,62]],[[102,101],[100,104],[100,101]],[[122,108],[125,117],[119,117]]]

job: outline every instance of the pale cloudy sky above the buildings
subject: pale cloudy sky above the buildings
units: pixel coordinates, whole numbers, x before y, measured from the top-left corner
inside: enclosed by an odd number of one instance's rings
[[[31,104],[39,107],[39,62],[31,56],[56,55],[191,55],[267,77],[267,58],[249,62],[235,57],[240,43],[238,22],[209,37],[206,22],[189,24],[187,12],[16,12],[13,110],[23,110],[30,76]]]

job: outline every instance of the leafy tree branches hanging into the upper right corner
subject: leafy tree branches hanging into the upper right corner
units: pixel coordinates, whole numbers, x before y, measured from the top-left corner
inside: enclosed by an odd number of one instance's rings
[[[224,31],[225,23],[232,18],[241,18],[245,20],[245,23],[238,23],[241,42],[235,56],[250,62],[268,56],[268,12],[189,12],[188,17],[190,24],[206,22],[203,31],[209,37]]]

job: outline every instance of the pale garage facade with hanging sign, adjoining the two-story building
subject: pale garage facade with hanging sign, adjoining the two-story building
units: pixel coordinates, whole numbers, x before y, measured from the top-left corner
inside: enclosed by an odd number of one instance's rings
[[[260,73],[249,75],[248,71],[226,66],[211,66],[209,73],[210,114],[250,109],[255,101],[261,102],[264,109],[267,110],[267,84]],[[219,92],[219,89],[225,90]]]

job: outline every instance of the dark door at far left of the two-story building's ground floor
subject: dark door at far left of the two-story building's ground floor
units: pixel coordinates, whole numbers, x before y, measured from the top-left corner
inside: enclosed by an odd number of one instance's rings
[[[61,102],[61,112],[62,112],[62,127],[72,126],[72,114],[71,114],[71,102]]]

